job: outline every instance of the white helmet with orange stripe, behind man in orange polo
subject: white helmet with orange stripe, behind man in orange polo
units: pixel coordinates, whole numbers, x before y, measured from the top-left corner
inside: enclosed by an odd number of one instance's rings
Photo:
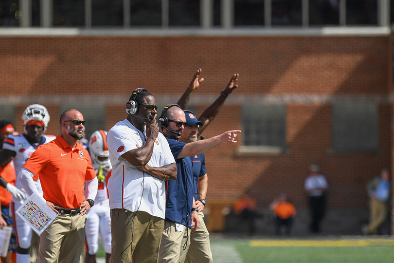
[[[102,165],[102,166],[108,166],[110,165],[109,162],[109,152],[107,148],[107,142],[106,142],[106,136],[107,136],[107,131],[99,130],[99,131],[94,131],[89,140],[89,153],[90,153],[90,158],[91,161],[95,165]],[[100,161],[98,157],[105,157],[104,161]]]

